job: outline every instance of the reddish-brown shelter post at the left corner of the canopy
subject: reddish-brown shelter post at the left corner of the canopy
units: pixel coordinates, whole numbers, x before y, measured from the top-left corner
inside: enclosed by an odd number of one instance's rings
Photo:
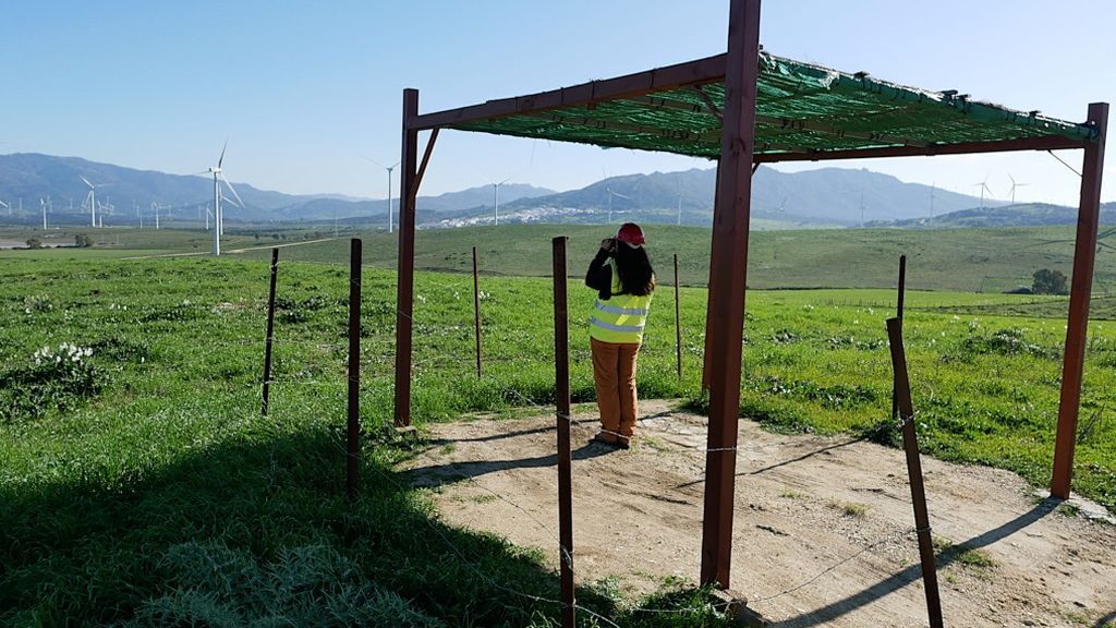
[[[400,253],[395,294],[395,425],[411,425],[411,346],[415,287],[415,168],[419,132],[411,121],[419,115],[419,91],[403,91],[403,156],[400,162]]]

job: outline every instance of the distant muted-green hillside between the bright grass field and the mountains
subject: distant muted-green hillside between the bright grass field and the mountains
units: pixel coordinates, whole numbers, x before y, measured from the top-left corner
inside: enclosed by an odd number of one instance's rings
[[[575,274],[593,256],[606,226],[511,225],[461,229],[422,230],[416,236],[416,264],[430,270],[470,272],[472,247],[489,274],[547,276],[550,238],[570,237]],[[88,230],[51,232],[47,241],[69,244],[74,235]],[[339,231],[329,239],[325,226],[276,231],[270,228],[230,229],[225,251],[249,259],[264,259],[271,245],[283,245],[282,258],[316,263],[344,263],[349,236],[365,239],[366,263],[395,267],[397,235],[384,231]],[[0,231],[0,240],[21,242],[29,231]],[[0,251],[4,258],[80,259],[87,255],[136,256],[198,254],[210,250],[199,231],[106,229],[95,231],[98,246],[92,250]],[[672,280],[671,258],[679,255],[684,285],[704,285],[709,278],[711,234],[698,227],[652,226],[647,229],[651,255],[662,282]],[[895,285],[901,254],[908,258],[908,285],[915,289],[998,293],[1031,285],[1040,268],[1072,268],[1071,227],[1020,227],[913,231],[899,229],[838,229],[818,231],[754,231],[749,248],[748,283],[753,288],[887,287]],[[104,244],[104,247],[100,246]],[[291,246],[287,246],[291,245]],[[254,249],[254,250],[252,250]],[[242,253],[235,253],[242,250]],[[113,251],[113,253],[104,253]],[[1116,294],[1116,253],[1101,248],[1097,255],[1095,294]]]

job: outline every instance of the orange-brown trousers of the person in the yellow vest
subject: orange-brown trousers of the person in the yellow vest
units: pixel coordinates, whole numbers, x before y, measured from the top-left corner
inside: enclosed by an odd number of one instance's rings
[[[639,400],[635,389],[637,343],[612,343],[589,339],[593,345],[593,379],[597,384],[597,409],[602,438],[627,444],[635,434],[635,418],[639,415]],[[614,432],[614,434],[608,434]],[[623,435],[622,437],[615,436]]]

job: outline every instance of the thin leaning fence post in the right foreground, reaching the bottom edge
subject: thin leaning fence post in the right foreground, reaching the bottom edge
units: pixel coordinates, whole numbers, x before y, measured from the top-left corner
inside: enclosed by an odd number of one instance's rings
[[[942,628],[942,600],[937,591],[937,571],[934,565],[934,543],[926,510],[926,488],[922,482],[922,460],[918,458],[918,436],[914,425],[914,405],[911,402],[911,382],[907,379],[906,355],[903,351],[903,322],[887,320],[887,339],[892,349],[892,369],[895,373],[896,399],[903,421],[903,450],[907,459],[907,478],[911,482],[911,501],[914,504],[915,532],[918,534],[918,558],[922,561],[923,588],[926,590],[926,611],[931,628]]]

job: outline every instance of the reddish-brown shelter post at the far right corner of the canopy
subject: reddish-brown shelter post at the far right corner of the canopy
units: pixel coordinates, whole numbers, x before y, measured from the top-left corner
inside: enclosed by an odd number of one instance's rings
[[[1089,105],[1087,121],[1097,131],[1097,141],[1085,146],[1081,165],[1081,197],[1077,210],[1077,242],[1074,246],[1074,279],[1069,292],[1069,322],[1061,367],[1061,399],[1058,403],[1058,436],[1054,447],[1050,495],[1068,499],[1074,478],[1074,448],[1077,445],[1077,415],[1081,407],[1085,344],[1089,327],[1089,297],[1097,256],[1097,223],[1100,218],[1100,174],[1105,164],[1108,104]]]

